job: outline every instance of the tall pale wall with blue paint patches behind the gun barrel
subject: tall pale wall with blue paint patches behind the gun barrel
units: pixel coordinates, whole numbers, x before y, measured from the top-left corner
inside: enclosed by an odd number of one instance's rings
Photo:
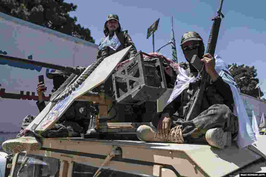
[[[44,28],[0,12],[0,54],[7,56],[48,62],[63,66],[88,66],[97,56],[98,45]],[[9,64],[9,65],[8,65]],[[53,83],[45,75],[49,69],[16,64],[8,64],[0,59],[0,89],[5,93],[20,94],[20,91],[35,92],[38,75],[44,75],[47,92],[51,93]],[[11,66],[10,66],[11,65]],[[21,64],[20,64],[21,65]],[[31,68],[31,69],[29,69]],[[51,69],[50,69],[51,70]],[[37,95],[37,92],[35,92]],[[0,131],[18,132],[23,118],[38,115],[35,100],[1,98],[0,91]]]

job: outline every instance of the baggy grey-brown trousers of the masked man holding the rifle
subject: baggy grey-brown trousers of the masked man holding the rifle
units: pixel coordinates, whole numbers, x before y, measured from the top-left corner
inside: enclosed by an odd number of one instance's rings
[[[161,113],[153,118],[152,124],[157,127]],[[200,142],[207,130],[223,128],[224,131],[232,132],[232,140],[238,134],[238,117],[234,115],[228,106],[214,104],[190,121],[185,121],[177,116],[172,116],[171,128],[182,125],[182,135],[186,143]]]

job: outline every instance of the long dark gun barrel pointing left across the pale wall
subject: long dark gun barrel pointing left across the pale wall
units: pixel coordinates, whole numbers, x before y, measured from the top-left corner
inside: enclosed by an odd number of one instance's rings
[[[51,63],[45,63],[45,62],[28,60],[28,59],[17,58],[17,57],[11,57],[11,56],[6,56],[6,55],[0,54],[0,60],[1,59],[14,61],[14,62],[20,62],[20,63],[24,63],[24,64],[30,64],[30,65],[34,65],[34,66],[41,66],[44,68],[61,70],[61,71],[65,71],[68,73],[80,74],[79,70],[77,70],[76,68],[73,68],[73,67],[68,67],[68,66],[60,66],[60,65],[55,65],[55,64],[51,64]]]

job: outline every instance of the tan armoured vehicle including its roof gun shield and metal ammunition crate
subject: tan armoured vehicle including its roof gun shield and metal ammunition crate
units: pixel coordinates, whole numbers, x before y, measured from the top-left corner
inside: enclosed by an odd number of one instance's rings
[[[194,177],[238,176],[240,173],[266,172],[264,136],[258,136],[256,144],[243,149],[239,149],[236,144],[225,149],[217,149],[205,144],[147,143],[136,138],[132,140],[101,138],[109,135],[114,137],[121,135],[122,138],[134,136],[139,125],[151,124],[150,122],[110,123],[107,121],[108,104],[112,102],[108,96],[88,93],[89,90],[104,83],[108,77],[110,78],[110,74],[129,49],[130,47],[104,60],[98,60],[99,63],[90,65],[82,71],[82,74],[70,77],[73,80],[65,84],[63,92],[52,96],[56,101],[53,102],[51,99],[51,102],[27,127],[33,131],[45,131],[60,119],[60,115],[74,100],[94,101],[101,103],[95,121],[99,136],[92,138],[89,136],[91,132],[88,132],[88,136],[80,138],[40,138],[42,142],[40,150],[24,151],[13,154],[12,159],[9,158],[10,163],[7,167],[10,169],[10,177]],[[142,54],[139,52],[113,74],[115,99],[118,103],[124,104],[141,104],[156,100],[157,111],[160,112],[171,94],[171,89],[166,87],[162,61],[144,62]],[[97,68],[90,71],[94,65]],[[98,69],[101,67],[105,70]],[[148,77],[156,79],[148,82]],[[60,107],[57,107],[58,104]],[[51,116],[46,117],[49,114]]]

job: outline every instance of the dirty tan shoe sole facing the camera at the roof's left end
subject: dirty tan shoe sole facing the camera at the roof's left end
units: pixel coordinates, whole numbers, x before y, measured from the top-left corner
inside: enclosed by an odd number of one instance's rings
[[[22,151],[36,151],[41,149],[41,144],[36,140],[9,140],[8,142],[3,142],[2,146],[5,149],[13,151],[14,153],[20,153]]]

